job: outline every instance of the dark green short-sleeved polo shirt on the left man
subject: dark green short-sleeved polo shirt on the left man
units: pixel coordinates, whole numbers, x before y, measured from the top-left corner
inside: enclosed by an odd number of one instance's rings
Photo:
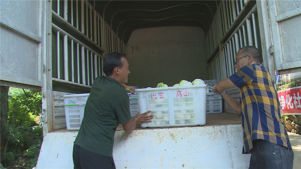
[[[74,144],[112,157],[116,128],[130,120],[126,90],[115,79],[99,76],[93,82]]]

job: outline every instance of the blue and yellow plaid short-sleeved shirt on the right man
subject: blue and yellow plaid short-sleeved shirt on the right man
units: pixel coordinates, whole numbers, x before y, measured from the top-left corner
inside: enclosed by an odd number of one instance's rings
[[[252,140],[256,139],[291,149],[284,124],[280,121],[277,92],[268,70],[259,63],[249,64],[229,79],[240,88],[243,153],[249,153],[253,148]]]

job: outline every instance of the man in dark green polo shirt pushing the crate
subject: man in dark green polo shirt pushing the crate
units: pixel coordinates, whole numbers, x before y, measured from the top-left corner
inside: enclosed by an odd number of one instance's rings
[[[129,97],[121,84],[128,82],[129,63],[125,54],[106,54],[103,71],[95,78],[85,106],[82,124],[73,146],[74,168],[115,168],[113,142],[116,128],[130,133],[136,124],[150,122],[150,111],[131,120]]]

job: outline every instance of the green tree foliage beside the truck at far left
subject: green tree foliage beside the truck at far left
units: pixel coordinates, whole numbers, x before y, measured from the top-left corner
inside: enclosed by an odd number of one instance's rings
[[[42,111],[41,91],[10,88],[7,126],[10,132],[2,164],[14,168],[32,168],[36,165],[42,145],[39,116]]]

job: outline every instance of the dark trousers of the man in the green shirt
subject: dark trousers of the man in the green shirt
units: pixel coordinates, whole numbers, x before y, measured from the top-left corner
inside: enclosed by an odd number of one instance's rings
[[[113,157],[90,152],[82,147],[73,145],[74,169],[116,169]]]

